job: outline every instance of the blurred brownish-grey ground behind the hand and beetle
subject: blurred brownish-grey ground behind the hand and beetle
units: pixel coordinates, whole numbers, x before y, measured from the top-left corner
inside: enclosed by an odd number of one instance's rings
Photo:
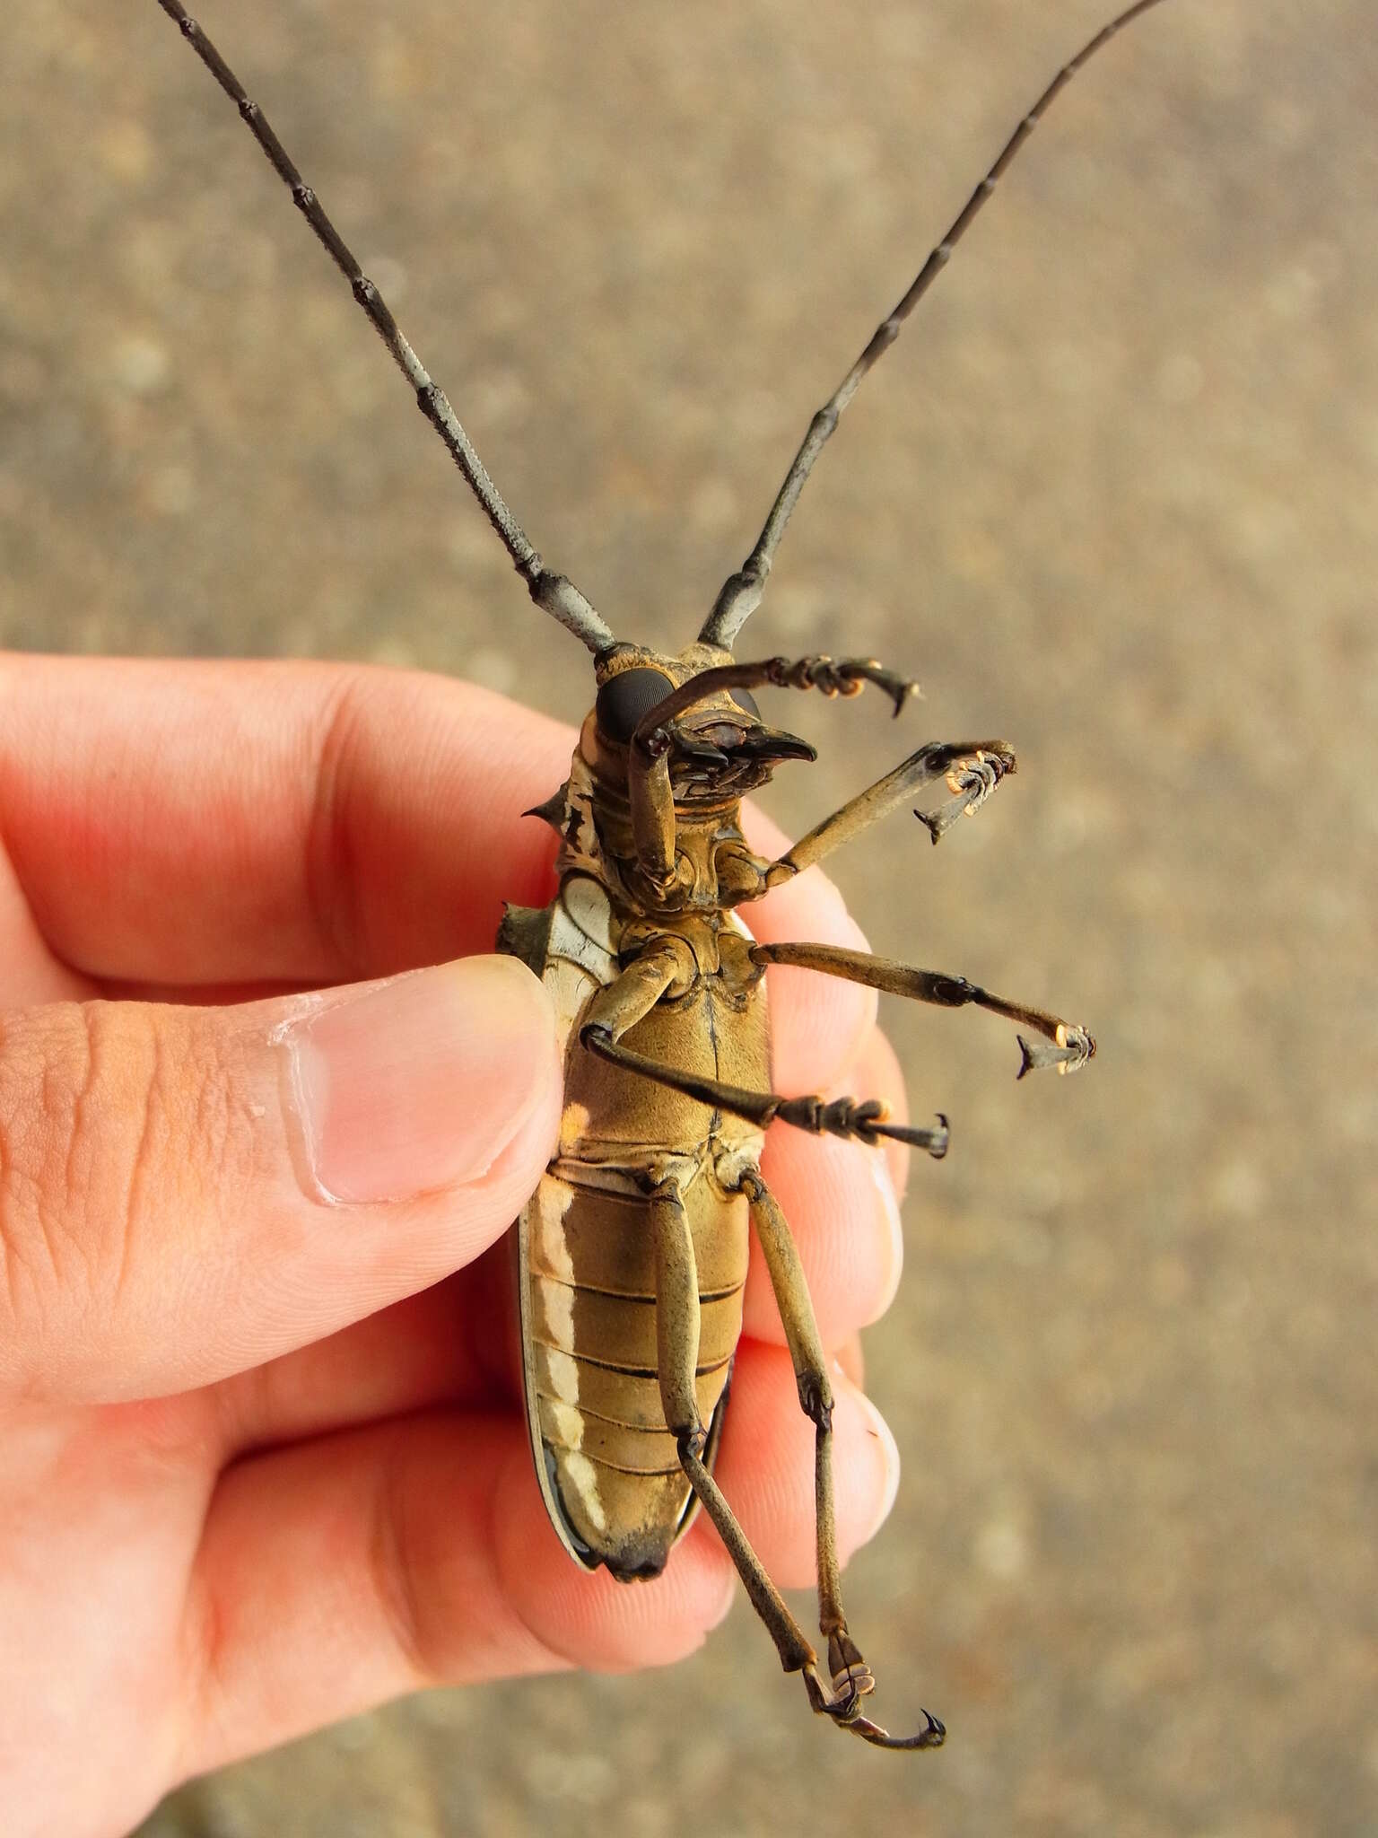
[[[1112,0],[204,0],[533,539],[678,647],[810,410]],[[742,1601],[650,1678],[435,1693],[147,1838],[808,1823],[1378,1831],[1378,33],[1170,0],[1040,127],[854,403],[759,651],[803,829],[917,739],[1020,777],[836,858],[875,947],[1086,1018],[887,1020],[954,1152],[867,1336],[906,1463],[849,1575],[895,1724],[805,1713]],[[371,658],[577,720],[375,335],[154,0],[0,24],[0,640]],[[924,733],[919,733],[922,726]],[[61,1834],[59,1834],[61,1838]]]

